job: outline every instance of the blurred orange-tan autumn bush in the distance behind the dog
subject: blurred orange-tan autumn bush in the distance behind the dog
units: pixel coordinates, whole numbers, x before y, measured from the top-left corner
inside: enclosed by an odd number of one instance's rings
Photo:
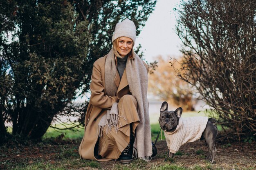
[[[148,91],[168,104],[182,107],[184,111],[194,110],[197,97],[193,86],[176,77],[175,69],[169,63],[170,59],[165,60],[159,56],[157,61],[158,67],[148,77]],[[177,66],[179,64],[175,63],[175,67]]]

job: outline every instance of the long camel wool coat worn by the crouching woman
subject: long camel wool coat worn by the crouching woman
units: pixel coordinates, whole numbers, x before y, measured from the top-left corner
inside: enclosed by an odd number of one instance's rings
[[[119,99],[124,95],[130,94],[129,85],[126,77],[126,70],[122,79],[120,79],[117,71],[114,78],[115,85],[118,87],[117,96],[106,95],[105,90],[105,62],[106,56],[99,58],[93,64],[92,69],[92,82],[90,84],[91,97],[85,115],[85,131],[83,139],[79,146],[79,155],[83,159],[97,160],[97,161],[109,161],[110,159],[102,158],[97,159],[94,154],[94,148],[97,144],[99,137],[98,125],[102,116],[107,113],[107,109],[112,107],[112,104],[119,102]],[[130,60],[128,57],[127,60]],[[117,64],[117,58],[115,58]],[[147,71],[148,66],[143,62]]]

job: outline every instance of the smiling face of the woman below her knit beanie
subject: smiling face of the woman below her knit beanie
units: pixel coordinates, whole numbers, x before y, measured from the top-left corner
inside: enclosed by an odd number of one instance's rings
[[[122,56],[126,56],[132,50],[132,39],[128,37],[120,37],[118,40],[117,52]]]

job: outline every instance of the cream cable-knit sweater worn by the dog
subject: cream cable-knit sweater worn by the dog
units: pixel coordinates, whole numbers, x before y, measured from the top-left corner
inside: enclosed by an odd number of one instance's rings
[[[180,118],[175,131],[164,131],[166,143],[170,152],[176,153],[183,144],[200,139],[206,128],[207,122],[208,117]]]

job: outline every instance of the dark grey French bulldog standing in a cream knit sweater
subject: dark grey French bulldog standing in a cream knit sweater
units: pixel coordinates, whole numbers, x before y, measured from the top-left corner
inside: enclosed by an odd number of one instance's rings
[[[208,148],[206,159],[213,163],[217,152],[215,146],[217,127],[213,124],[216,119],[208,119],[208,117],[181,118],[181,107],[175,111],[167,109],[167,102],[163,102],[158,121],[166,137],[168,157],[172,158],[183,144],[200,139],[205,141]]]

